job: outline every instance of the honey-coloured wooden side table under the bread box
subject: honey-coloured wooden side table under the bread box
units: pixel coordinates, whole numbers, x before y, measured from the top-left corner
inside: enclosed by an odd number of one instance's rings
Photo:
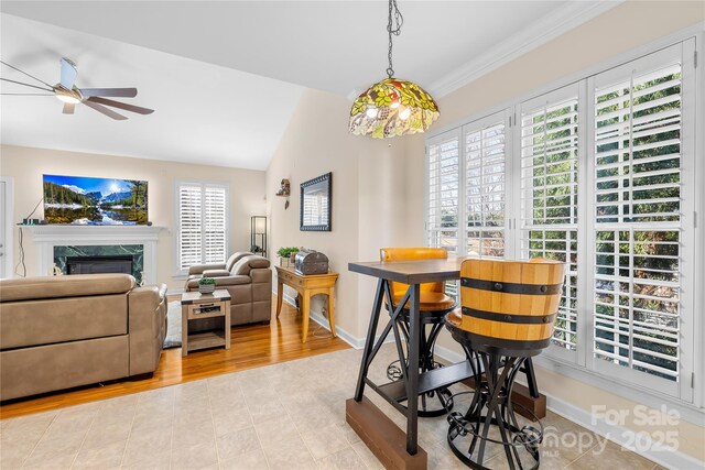
[[[284,284],[295,289],[302,298],[301,315],[303,318],[303,339],[306,342],[308,336],[308,311],[311,308],[311,297],[316,294],[326,294],[328,296],[328,321],[330,323],[330,332],[335,334],[335,282],[338,280],[338,273],[328,272],[327,274],[299,274],[293,267],[276,267],[276,318],[282,311],[282,298],[284,296]]]

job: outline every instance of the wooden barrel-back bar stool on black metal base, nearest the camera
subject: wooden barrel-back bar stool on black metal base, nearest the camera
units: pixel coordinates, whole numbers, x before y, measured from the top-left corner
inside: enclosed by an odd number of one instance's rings
[[[502,448],[510,469],[539,467],[543,426],[535,416],[534,424],[520,426],[512,385],[522,363],[551,341],[564,270],[563,263],[543,259],[462,264],[462,307],[446,316],[445,325],[465,350],[476,385],[467,412],[448,415],[447,440],[471,468],[487,468],[488,445]]]

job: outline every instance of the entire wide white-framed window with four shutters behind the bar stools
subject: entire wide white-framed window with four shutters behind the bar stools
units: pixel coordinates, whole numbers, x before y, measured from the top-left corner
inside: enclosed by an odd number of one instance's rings
[[[426,207],[430,245],[566,263],[545,356],[690,402],[694,51],[691,39],[429,139]]]

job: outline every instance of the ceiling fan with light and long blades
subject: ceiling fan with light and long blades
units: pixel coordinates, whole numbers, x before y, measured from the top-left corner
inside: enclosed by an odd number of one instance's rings
[[[121,98],[134,98],[137,96],[137,88],[78,88],[76,87],[76,76],[78,72],[76,69],[76,64],[73,61],[62,57],[61,63],[61,80],[56,85],[50,85],[44,80],[40,80],[39,78],[28,74],[26,72],[20,70],[18,67],[14,67],[6,62],[0,61],[0,64],[6,65],[14,70],[18,70],[21,74],[26,75],[28,77],[41,83],[44,86],[37,86],[32,84],[25,84],[23,81],[11,80],[9,78],[0,77],[2,81],[9,81],[17,85],[22,85],[25,87],[37,88],[43,91],[48,91],[44,94],[39,92],[0,92],[0,95],[15,95],[15,96],[55,96],[61,101],[64,102],[64,114],[73,114],[76,105],[83,103],[89,108],[95,109],[98,112],[106,114],[109,118],[122,121],[128,119],[126,116],[122,116],[116,111],[113,111],[109,107],[122,109],[124,111],[137,112],[138,114],[151,114],[154,112],[153,109],[142,108],[134,105],[128,105],[126,102],[115,101],[112,99],[108,99],[106,97],[121,97]]]

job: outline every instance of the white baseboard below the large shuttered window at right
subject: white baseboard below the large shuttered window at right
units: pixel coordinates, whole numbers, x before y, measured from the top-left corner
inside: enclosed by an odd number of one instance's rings
[[[448,363],[465,360],[465,356],[458,354],[442,346],[435,347],[436,356]],[[542,392],[543,393],[543,392]],[[593,433],[618,444],[640,456],[643,456],[660,466],[673,469],[701,469],[703,462],[686,453],[673,450],[661,442],[651,439],[647,431],[634,431],[623,426],[608,422],[605,418],[596,418],[589,412],[577,407],[550,394],[546,395],[546,408],[564,418],[592,430]]]

